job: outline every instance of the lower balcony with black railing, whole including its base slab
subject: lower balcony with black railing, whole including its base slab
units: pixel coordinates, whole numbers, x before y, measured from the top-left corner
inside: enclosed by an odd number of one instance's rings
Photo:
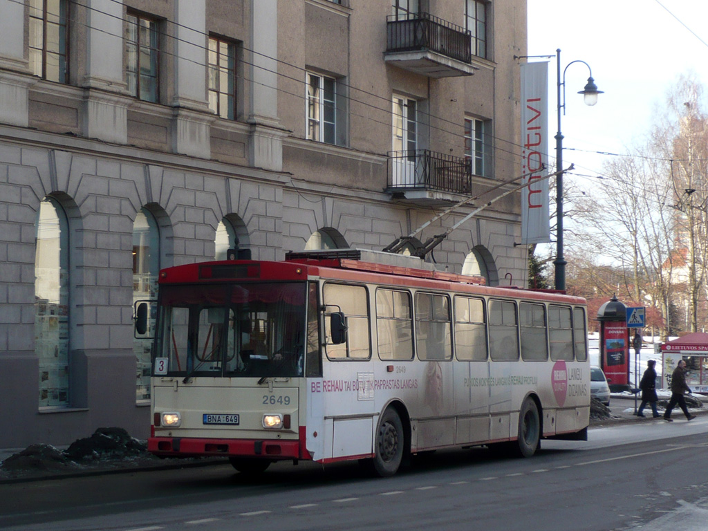
[[[402,202],[444,205],[472,193],[469,162],[459,156],[416,149],[389,152],[386,191]]]

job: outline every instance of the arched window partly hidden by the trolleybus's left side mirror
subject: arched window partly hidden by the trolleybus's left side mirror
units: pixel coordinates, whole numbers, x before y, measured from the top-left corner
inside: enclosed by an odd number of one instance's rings
[[[160,273],[160,231],[155,217],[146,208],[140,209],[133,223],[133,303],[157,298],[157,277]],[[151,307],[154,307],[151,305]],[[149,330],[154,327],[154,315],[149,317]],[[147,336],[152,336],[148,333]],[[135,398],[150,398],[149,338],[135,338],[133,352],[137,363]]]

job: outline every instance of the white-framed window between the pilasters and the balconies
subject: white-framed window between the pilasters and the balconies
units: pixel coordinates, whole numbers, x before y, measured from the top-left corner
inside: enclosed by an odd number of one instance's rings
[[[307,139],[337,143],[337,82],[307,72]]]

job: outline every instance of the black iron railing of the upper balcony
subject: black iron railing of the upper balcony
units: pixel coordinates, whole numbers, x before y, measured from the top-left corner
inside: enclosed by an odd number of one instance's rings
[[[387,52],[430,50],[457,61],[472,62],[472,33],[429,13],[387,18]]]

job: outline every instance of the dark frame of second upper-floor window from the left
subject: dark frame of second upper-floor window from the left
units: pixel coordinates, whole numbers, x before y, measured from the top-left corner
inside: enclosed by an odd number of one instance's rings
[[[135,19],[132,21],[131,19]],[[144,45],[142,43],[142,22],[148,23],[149,31],[149,44]],[[149,103],[159,103],[160,101],[160,21],[157,18],[144,15],[137,11],[127,11],[125,18],[125,77],[127,83],[127,90],[130,96],[137,98],[140,101],[147,101]],[[131,26],[135,25],[135,37],[137,40],[130,40],[131,37]],[[131,62],[130,47],[135,47],[135,64]],[[150,70],[149,74],[142,74],[142,50],[149,50],[149,62]],[[131,75],[135,76],[135,89],[131,89]],[[149,97],[144,97],[144,83],[143,78],[154,80],[154,91],[147,93]]]

